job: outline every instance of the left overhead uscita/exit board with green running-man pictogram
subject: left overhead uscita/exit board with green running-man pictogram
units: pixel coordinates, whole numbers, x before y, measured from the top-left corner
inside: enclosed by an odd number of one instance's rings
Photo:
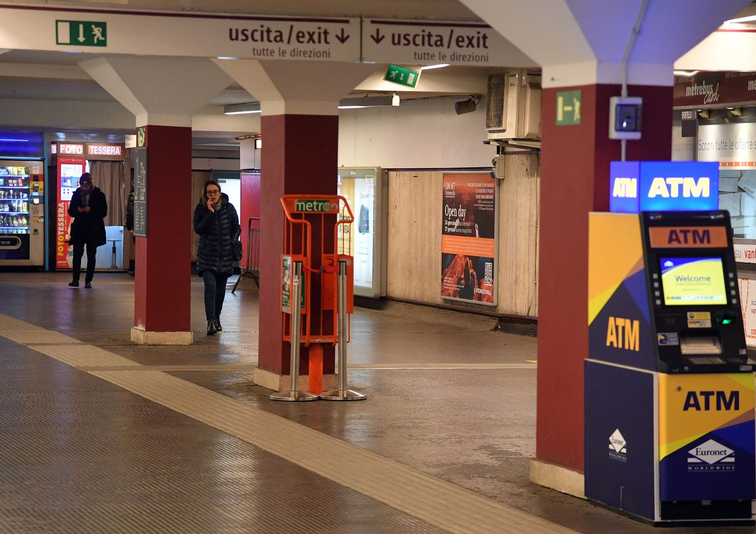
[[[98,21],[70,20],[72,15],[88,14]],[[143,56],[360,60],[358,18],[144,14],[13,5],[0,8],[0,20],[0,48],[60,51],[97,46],[112,54]],[[187,39],[188,35],[198,38]]]

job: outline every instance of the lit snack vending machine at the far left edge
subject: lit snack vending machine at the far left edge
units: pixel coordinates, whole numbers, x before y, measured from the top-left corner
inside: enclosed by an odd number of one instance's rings
[[[45,265],[42,162],[0,161],[0,265]]]

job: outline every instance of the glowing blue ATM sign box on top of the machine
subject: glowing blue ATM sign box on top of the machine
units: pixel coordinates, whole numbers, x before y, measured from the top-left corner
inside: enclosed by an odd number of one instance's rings
[[[609,211],[708,211],[719,208],[717,162],[612,162]]]

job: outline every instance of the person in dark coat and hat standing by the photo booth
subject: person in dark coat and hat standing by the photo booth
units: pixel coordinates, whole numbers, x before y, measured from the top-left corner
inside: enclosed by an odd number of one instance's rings
[[[105,193],[92,185],[92,177],[88,172],[79,178],[79,189],[71,196],[68,215],[73,218],[69,241],[73,245],[73,281],[69,286],[79,287],[82,255],[86,247],[87,273],[84,278],[84,287],[91,288],[92,278],[95,276],[97,248],[107,242],[103,221],[107,215],[107,199]]]

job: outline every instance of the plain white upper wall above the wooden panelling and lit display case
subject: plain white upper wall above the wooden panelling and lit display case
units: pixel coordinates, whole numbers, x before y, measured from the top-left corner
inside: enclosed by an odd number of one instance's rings
[[[483,144],[485,100],[457,115],[458,98],[403,101],[339,113],[339,166],[383,168],[490,167],[494,147]]]

